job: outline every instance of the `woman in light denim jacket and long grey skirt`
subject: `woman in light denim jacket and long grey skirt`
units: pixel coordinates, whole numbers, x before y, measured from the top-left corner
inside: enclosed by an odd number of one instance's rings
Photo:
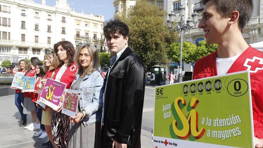
[[[103,77],[98,71],[99,55],[94,45],[79,45],[75,62],[78,72],[71,89],[79,90],[79,113],[70,118],[68,147],[100,147],[101,106],[100,90]],[[100,99],[101,98],[101,99]]]

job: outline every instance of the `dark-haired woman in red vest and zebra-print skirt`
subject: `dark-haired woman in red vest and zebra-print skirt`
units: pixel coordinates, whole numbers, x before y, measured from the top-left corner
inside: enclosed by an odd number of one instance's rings
[[[54,45],[54,51],[60,60],[60,65],[55,71],[54,80],[66,83],[69,89],[75,79],[77,66],[74,62],[74,46],[71,42],[60,41]],[[62,103],[60,103],[62,106]],[[62,114],[61,108],[51,111],[52,136],[55,147],[68,147],[69,116]]]

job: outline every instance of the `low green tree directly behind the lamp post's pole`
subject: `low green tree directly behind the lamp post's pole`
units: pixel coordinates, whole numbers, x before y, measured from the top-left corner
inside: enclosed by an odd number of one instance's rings
[[[195,53],[196,46],[190,42],[183,42],[182,46],[182,62],[194,62],[192,54]],[[172,61],[178,62],[180,61],[180,43],[173,43],[170,45],[170,48],[167,51],[168,58],[172,59]]]

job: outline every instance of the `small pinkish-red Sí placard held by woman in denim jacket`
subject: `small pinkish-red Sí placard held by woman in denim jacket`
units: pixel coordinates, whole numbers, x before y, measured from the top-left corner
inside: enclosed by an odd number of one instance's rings
[[[64,97],[65,99],[62,106],[62,113],[76,118],[79,105],[79,91],[66,89]]]

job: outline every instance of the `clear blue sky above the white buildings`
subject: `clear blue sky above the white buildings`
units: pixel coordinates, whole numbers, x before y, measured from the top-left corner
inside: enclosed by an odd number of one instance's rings
[[[33,0],[41,4],[41,0]],[[100,14],[104,16],[104,20],[108,21],[113,18],[114,6],[113,0],[67,0],[71,8],[75,8],[76,12],[84,10],[85,14]],[[56,0],[46,0],[46,5],[54,6]]]

